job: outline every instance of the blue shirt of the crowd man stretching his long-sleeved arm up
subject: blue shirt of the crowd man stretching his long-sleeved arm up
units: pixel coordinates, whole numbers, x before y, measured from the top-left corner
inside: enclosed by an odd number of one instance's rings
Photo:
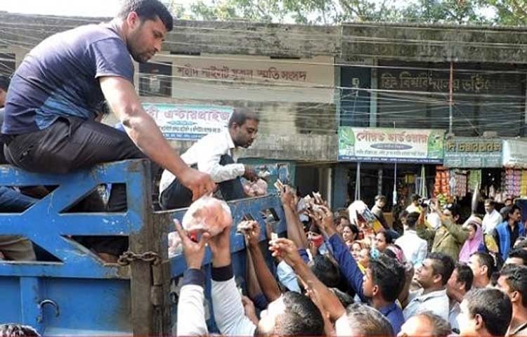
[[[342,242],[338,234],[333,234],[332,237],[330,237],[329,242],[333,249],[333,256],[335,260],[337,260],[337,263],[339,263],[340,271],[344,277],[346,277],[349,286],[356,291],[360,300],[368,302],[363,291],[363,273],[360,272],[355,259],[351,256],[348,246]],[[395,333],[401,331],[401,326],[405,322],[405,319],[403,310],[401,310],[398,305],[390,303],[379,311],[390,321]]]

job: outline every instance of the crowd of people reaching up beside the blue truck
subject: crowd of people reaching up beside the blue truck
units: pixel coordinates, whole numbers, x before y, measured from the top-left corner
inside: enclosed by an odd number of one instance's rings
[[[247,244],[247,293],[236,286],[230,227],[192,240],[176,224],[188,264],[178,303],[179,336],[209,333],[200,269],[207,245],[214,319],[226,336],[527,334],[527,241],[517,206],[502,211],[501,219],[489,199],[483,219],[472,215],[461,223],[456,205],[422,205],[416,197],[399,217],[401,235],[380,219],[382,229],[372,232],[363,216],[349,213],[353,206],[333,212],[320,199],[301,202],[290,187],[280,197],[286,237],[276,237],[270,224],[238,224]],[[385,198],[375,202],[382,210]]]

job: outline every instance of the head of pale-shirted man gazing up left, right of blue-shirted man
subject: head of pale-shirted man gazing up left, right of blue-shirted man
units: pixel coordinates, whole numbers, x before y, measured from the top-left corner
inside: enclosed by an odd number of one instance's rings
[[[454,261],[443,253],[429,253],[417,268],[415,278],[423,289],[441,289],[454,271]]]

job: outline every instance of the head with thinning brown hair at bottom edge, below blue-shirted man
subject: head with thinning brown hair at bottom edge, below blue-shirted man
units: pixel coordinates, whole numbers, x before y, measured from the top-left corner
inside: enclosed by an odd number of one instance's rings
[[[353,303],[346,308],[349,331],[339,331],[338,336],[393,336],[390,321],[379,311],[364,303]]]

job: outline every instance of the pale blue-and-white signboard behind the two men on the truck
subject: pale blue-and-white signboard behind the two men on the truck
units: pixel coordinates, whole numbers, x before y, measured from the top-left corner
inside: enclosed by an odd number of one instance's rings
[[[233,107],[143,103],[169,140],[198,140],[228,126]]]

